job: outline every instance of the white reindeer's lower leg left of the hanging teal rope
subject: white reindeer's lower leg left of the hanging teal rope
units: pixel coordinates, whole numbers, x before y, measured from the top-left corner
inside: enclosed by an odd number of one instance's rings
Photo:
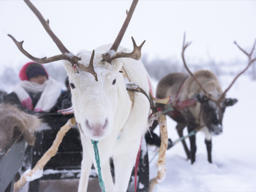
[[[83,160],[81,163],[81,177],[79,180],[78,191],[87,191],[89,174],[92,168],[92,160],[89,156],[86,146],[83,146]]]

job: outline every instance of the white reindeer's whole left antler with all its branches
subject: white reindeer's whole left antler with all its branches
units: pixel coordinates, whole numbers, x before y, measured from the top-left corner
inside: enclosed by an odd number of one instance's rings
[[[23,49],[22,44],[23,44],[24,41],[18,42],[18,41],[16,41],[16,39],[13,36],[8,34],[8,36],[12,38],[13,42],[16,44],[16,46],[18,47],[20,52],[22,52],[29,59],[31,59],[31,60],[33,60],[37,63],[41,63],[41,64],[50,63],[50,62],[58,61],[58,60],[68,60],[72,64],[72,66],[77,65],[82,70],[84,70],[88,73],[91,73],[94,76],[95,80],[98,81],[97,74],[96,74],[96,72],[94,71],[94,68],[93,68],[93,63],[92,63],[93,56],[91,58],[91,61],[90,61],[90,64],[89,64],[88,67],[85,67],[83,64],[80,64],[79,61],[81,59],[79,57],[75,56],[74,54],[70,53],[68,51],[68,49],[62,44],[60,39],[52,32],[52,29],[50,28],[50,25],[49,25],[50,21],[49,20],[46,21],[44,19],[43,15],[38,11],[38,9],[36,9],[36,7],[29,0],[24,0],[24,2],[28,5],[28,7],[31,9],[31,11],[33,13],[35,13],[36,17],[39,19],[39,21],[43,25],[44,29],[49,34],[49,36],[52,38],[52,40],[57,45],[57,47],[59,48],[59,50],[62,54],[56,55],[56,56],[53,56],[53,57],[49,57],[49,58],[44,57],[44,58],[41,58],[41,59],[33,57],[32,55],[30,55],[27,51],[25,51]],[[92,54],[94,55],[94,50],[93,50]]]

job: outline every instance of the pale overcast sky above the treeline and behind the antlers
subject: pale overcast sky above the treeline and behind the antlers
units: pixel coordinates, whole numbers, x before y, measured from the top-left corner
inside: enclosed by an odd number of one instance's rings
[[[32,1],[52,31],[73,53],[91,51],[114,42],[132,1]],[[193,41],[186,51],[187,62],[246,60],[234,40],[249,49],[256,38],[256,1],[154,1],[137,4],[121,42],[132,49],[146,40],[142,54],[150,59],[180,59],[183,33]],[[23,1],[0,1],[1,66],[17,66],[28,60],[7,34],[35,57],[60,54],[39,20]]]

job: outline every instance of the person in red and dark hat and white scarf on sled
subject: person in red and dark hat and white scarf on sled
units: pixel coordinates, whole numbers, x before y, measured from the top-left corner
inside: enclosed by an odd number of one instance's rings
[[[48,75],[43,65],[28,62],[21,68],[19,77],[20,83],[4,96],[4,103],[17,105],[32,114],[58,110],[55,105],[62,92],[61,84]]]

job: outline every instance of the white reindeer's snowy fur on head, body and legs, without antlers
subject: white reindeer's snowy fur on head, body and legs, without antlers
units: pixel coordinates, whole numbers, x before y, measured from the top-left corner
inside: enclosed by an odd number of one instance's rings
[[[113,60],[111,64],[101,62],[101,54],[108,51],[110,46],[103,45],[95,50],[93,66],[98,82],[92,74],[80,68],[78,70],[72,68],[68,61],[63,64],[69,81],[76,87],[71,90],[72,103],[76,121],[81,124],[82,128],[80,134],[83,160],[78,191],[87,190],[92,163],[95,167],[97,166],[91,140],[99,140],[101,172],[106,191],[126,191],[140,146],[140,139],[148,125],[150,112],[148,99],[145,95],[135,92],[132,108],[123,75],[119,71],[124,65],[131,81],[138,84],[145,92],[149,92],[148,73],[140,60],[120,58]],[[129,51],[123,49],[122,52]],[[80,63],[87,67],[91,54],[92,52],[78,53],[77,56],[81,58]],[[116,79],[115,85],[112,84],[114,79]],[[120,132],[122,128],[124,131]],[[110,173],[110,157],[114,160],[115,185]]]

